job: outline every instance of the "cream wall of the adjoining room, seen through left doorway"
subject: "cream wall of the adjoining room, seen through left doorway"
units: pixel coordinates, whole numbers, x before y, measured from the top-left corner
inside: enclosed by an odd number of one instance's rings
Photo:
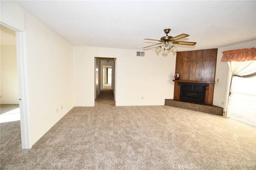
[[[19,104],[16,46],[1,46],[1,104]]]

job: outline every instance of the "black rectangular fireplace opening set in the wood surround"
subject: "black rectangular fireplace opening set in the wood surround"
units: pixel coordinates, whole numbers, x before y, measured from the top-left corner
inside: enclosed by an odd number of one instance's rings
[[[204,104],[205,92],[204,83],[180,83],[180,100]]]

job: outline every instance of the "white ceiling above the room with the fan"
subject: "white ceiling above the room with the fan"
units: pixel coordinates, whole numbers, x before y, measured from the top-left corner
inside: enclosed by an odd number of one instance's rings
[[[256,1],[17,1],[73,45],[142,49],[187,33],[179,51],[219,48],[256,39]],[[152,42],[152,41],[151,41]],[[156,41],[157,42],[157,41]]]

